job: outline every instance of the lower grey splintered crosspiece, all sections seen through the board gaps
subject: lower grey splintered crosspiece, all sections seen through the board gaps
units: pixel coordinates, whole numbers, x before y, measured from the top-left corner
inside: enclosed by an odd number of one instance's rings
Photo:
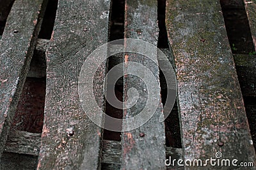
[[[20,130],[10,131],[6,142],[5,152],[38,156],[41,144],[40,133],[29,133]],[[181,148],[166,147],[166,157],[182,158]],[[121,142],[103,141],[102,163],[121,165]]]

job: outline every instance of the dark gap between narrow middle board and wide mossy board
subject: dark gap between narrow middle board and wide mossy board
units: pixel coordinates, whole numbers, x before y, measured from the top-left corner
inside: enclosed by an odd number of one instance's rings
[[[157,47],[161,48],[164,54],[168,57],[170,62],[173,65],[172,52],[169,49],[168,36],[165,27],[165,8],[166,0],[157,1],[157,18],[159,26],[159,38],[157,42]],[[163,75],[163,72],[160,70],[159,73],[160,87],[161,87],[161,101],[163,105],[166,103],[167,97],[167,85],[166,79]],[[166,136],[166,146],[171,146],[173,148],[182,148],[181,137],[180,137],[180,120],[179,120],[179,111],[177,107],[177,102],[173,106],[172,112],[164,121],[165,125],[165,136]]]

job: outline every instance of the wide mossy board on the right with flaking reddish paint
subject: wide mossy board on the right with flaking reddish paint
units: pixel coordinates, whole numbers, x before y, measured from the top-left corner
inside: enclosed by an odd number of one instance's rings
[[[223,158],[255,164],[219,1],[168,0],[166,28],[177,69],[184,158],[214,158],[221,151]]]

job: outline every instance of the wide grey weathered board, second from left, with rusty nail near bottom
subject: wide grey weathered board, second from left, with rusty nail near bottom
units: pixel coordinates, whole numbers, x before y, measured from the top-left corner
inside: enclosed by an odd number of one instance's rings
[[[58,2],[52,43],[46,55],[47,88],[38,169],[100,169],[102,130],[81,107],[78,76],[86,56],[108,41],[109,3]],[[101,75],[95,77],[94,94],[100,107],[104,104],[104,69],[100,67]],[[67,128],[73,128],[74,135],[68,137]]]

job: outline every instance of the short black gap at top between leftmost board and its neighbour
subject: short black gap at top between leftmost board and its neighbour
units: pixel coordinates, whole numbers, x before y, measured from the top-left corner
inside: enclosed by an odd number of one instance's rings
[[[45,10],[45,15],[44,15],[44,19],[42,22],[42,26],[41,26],[38,38],[47,39],[47,40],[51,39],[57,8],[58,8],[58,0],[49,0]]]

